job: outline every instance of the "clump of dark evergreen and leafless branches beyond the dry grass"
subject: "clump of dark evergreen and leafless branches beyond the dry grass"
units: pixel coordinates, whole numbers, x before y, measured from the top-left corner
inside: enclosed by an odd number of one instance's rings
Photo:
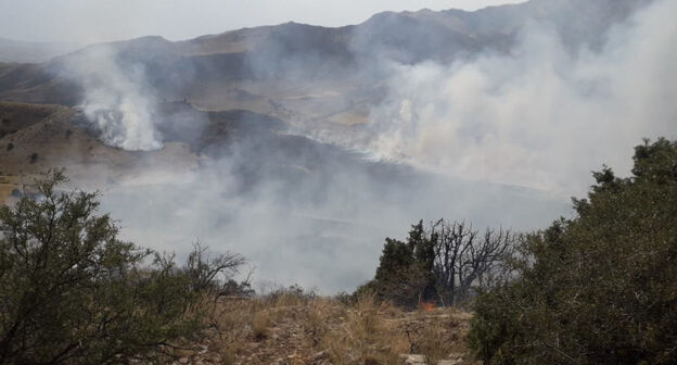
[[[411,226],[406,242],[386,238],[375,277],[360,290],[405,306],[421,301],[458,305],[473,286],[491,281],[518,236],[502,229],[484,235],[464,223],[439,219],[425,229]]]

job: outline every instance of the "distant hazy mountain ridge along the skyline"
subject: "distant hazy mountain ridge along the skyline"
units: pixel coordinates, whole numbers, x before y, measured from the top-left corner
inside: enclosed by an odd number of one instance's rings
[[[649,1],[532,0],[475,12],[385,12],[340,28],[288,23],[178,42],[144,37],[90,46],[43,65],[1,65],[0,100],[77,104],[81,87],[73,83],[78,75],[68,79],[69,67],[87,58],[95,63],[98,50],[108,48],[123,70],[143,70],[144,81],[162,98],[191,99],[209,109],[234,105],[266,113],[274,112],[270,103],[274,101],[311,117],[316,113],[303,112],[312,110],[312,103],[297,105],[308,93],[290,93],[290,89],[328,81],[333,91],[342,93],[346,78],[357,77],[347,83],[348,89],[360,80],[373,84],[379,76],[370,74],[374,79],[366,80],[365,70],[383,60],[450,62],[486,49],[506,52],[531,21],[549,24],[571,49],[583,43],[595,47],[603,41],[605,29]],[[279,80],[292,84],[278,90],[274,83]],[[310,95],[318,93],[316,87],[311,89]],[[294,101],[285,102],[286,97]]]

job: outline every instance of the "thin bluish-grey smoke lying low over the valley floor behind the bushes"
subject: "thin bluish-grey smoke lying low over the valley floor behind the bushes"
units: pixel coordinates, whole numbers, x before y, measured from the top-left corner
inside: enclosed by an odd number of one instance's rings
[[[298,150],[281,147],[292,141]],[[180,257],[200,240],[247,257],[256,287],[299,284],[322,293],[372,277],[384,238],[405,237],[419,218],[535,229],[567,213],[565,202],[537,191],[368,163],[293,136],[232,148],[192,171],[154,164],[123,178],[104,192],[103,207],[120,217],[125,239]]]

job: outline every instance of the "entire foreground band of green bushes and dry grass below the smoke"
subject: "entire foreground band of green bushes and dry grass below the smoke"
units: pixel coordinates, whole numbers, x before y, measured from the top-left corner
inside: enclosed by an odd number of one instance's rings
[[[97,194],[58,192],[52,172],[0,207],[0,364],[674,364],[677,142],[635,152],[631,177],[593,173],[573,218],[419,222],[336,298],[254,295],[238,254],[196,244],[179,265],[120,241]]]

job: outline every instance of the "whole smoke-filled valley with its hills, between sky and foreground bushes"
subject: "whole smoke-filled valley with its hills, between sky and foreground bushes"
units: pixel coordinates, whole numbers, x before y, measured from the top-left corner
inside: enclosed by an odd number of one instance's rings
[[[418,219],[544,227],[590,171],[627,175],[642,137],[676,137],[674,14],[532,0],[0,63],[0,171],[18,186],[65,167],[125,239],[353,290]]]

